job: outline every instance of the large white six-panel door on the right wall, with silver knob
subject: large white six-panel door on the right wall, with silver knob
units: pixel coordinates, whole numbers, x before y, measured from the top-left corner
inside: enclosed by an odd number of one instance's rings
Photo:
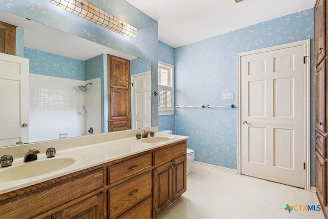
[[[304,187],[304,51],[240,57],[242,174]]]

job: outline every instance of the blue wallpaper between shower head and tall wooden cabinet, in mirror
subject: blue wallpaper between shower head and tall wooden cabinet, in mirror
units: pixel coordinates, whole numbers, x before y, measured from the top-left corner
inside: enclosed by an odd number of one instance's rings
[[[107,91],[107,54],[100,54],[85,61],[85,69],[86,81],[100,77],[101,133],[108,132],[108,94],[105,92]]]

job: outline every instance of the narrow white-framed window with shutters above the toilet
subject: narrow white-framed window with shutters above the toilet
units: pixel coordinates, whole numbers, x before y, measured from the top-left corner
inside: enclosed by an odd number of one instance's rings
[[[174,66],[158,62],[158,115],[174,114]]]

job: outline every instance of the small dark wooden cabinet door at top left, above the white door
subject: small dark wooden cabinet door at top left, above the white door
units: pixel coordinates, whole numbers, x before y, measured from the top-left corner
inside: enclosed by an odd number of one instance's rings
[[[0,52],[16,55],[16,26],[0,22]]]

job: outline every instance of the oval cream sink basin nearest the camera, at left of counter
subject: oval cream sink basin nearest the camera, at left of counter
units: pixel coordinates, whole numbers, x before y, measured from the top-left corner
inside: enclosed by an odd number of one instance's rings
[[[8,182],[14,180],[24,180],[38,175],[54,172],[75,163],[75,159],[71,157],[53,157],[39,158],[36,161],[30,161],[22,164],[13,164],[11,167],[0,169],[0,182]]]

